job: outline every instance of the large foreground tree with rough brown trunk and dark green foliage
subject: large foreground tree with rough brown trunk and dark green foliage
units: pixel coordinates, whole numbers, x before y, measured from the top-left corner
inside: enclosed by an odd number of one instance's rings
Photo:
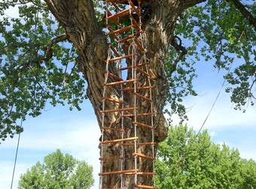
[[[47,103],[56,106],[67,102],[71,109],[80,109],[79,104],[89,98],[100,124],[108,53],[108,42],[102,31],[102,3],[93,0],[0,2],[2,139],[22,132],[17,120],[25,120],[26,115],[40,115]],[[254,104],[256,8],[253,1],[150,0],[148,5],[151,8],[142,26],[146,36],[143,43],[154,86],[157,143],[168,133],[163,116],[166,103],[171,104],[170,114],[178,113],[186,118],[182,97],[196,95],[192,86],[196,76],[194,62],[202,57],[206,62],[214,60],[218,69],[229,69],[234,58],[241,58],[242,63],[226,76],[233,85],[227,92],[231,93],[237,109],[243,109],[248,101]],[[19,16],[10,17],[6,10],[12,8],[14,12],[15,6]],[[116,91],[113,87],[113,94]],[[147,134],[142,137],[147,138]],[[114,146],[108,148],[109,156],[119,153]],[[151,171],[147,163],[140,166]],[[115,169],[115,164],[108,167],[109,171]],[[112,176],[105,179],[104,185],[117,187],[119,179]],[[132,181],[128,182],[127,187],[131,188]]]

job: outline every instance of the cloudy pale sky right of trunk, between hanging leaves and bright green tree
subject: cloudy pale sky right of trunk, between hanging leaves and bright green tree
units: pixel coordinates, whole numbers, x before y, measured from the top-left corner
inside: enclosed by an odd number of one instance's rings
[[[223,79],[218,78],[220,76],[216,77],[215,74],[211,73],[200,78],[195,86],[197,86],[200,95],[203,95],[184,100],[185,106],[191,107],[187,113],[189,120],[185,121],[188,127],[194,127],[196,131],[200,130],[221,89]],[[233,110],[230,103],[230,94],[225,93],[222,89],[212,113],[209,114],[203,126],[203,130],[207,129],[209,131],[212,141],[215,143],[222,144],[225,142],[230,148],[238,148],[241,157],[256,160],[255,115],[256,110],[253,107],[248,107],[245,113]],[[177,115],[172,118],[173,124],[178,124]]]

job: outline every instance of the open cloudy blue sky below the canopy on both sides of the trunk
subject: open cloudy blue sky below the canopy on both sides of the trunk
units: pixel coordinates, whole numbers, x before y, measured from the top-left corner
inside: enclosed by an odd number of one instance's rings
[[[199,77],[194,85],[199,96],[184,99],[186,107],[191,107],[187,113],[187,124],[195,130],[203,124],[223,83],[223,77],[211,65],[199,63],[198,67]],[[47,111],[39,117],[23,122],[24,132],[20,139],[13,188],[17,188],[21,173],[38,160],[42,162],[44,156],[56,148],[92,165],[96,180],[92,188],[98,188],[100,132],[93,108],[90,101],[86,101],[81,112],[70,112],[68,109],[46,107]],[[253,107],[248,107],[246,113],[233,110],[229,95],[222,91],[203,129],[209,131],[213,142],[225,142],[231,148],[238,148],[241,157],[256,160],[255,113]],[[173,124],[178,124],[177,116],[172,118]],[[16,145],[17,136],[0,145],[0,188],[11,187]]]

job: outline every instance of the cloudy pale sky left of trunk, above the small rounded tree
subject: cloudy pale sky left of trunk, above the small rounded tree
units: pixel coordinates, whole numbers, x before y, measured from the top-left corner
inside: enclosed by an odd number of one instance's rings
[[[24,121],[24,132],[20,137],[17,169],[14,187],[20,174],[26,172],[38,160],[59,148],[63,153],[72,154],[93,166],[96,186],[99,183],[99,136],[100,130],[93,118],[93,110],[85,106],[81,112],[69,112],[59,108],[47,111],[38,118]],[[10,188],[11,175],[17,145],[17,136],[7,139],[0,145],[0,188]],[[96,187],[93,187],[96,188]]]

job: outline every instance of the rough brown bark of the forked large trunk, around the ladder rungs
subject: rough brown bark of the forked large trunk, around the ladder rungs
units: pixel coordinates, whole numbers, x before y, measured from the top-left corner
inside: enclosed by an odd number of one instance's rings
[[[93,0],[45,0],[50,11],[56,17],[56,20],[66,29],[66,36],[75,45],[78,50],[78,62],[80,62],[81,71],[87,80],[87,96],[93,104],[93,109],[96,118],[101,125],[100,110],[102,108],[102,84],[105,76],[105,59],[107,58],[108,43],[102,28],[99,27],[95,11],[93,10]],[[167,135],[167,124],[163,116],[163,106],[166,101],[166,96],[169,92],[169,83],[166,80],[164,71],[164,63],[166,55],[169,51],[169,45],[172,40],[172,34],[175,28],[176,20],[179,14],[187,7],[197,5],[204,0],[151,0],[151,17],[145,23],[145,49],[147,49],[147,57],[150,60],[150,73],[153,80],[153,100],[155,117],[155,139],[156,142],[163,141]],[[114,69],[114,68],[113,68]],[[113,94],[117,95],[117,89],[113,89]],[[126,98],[126,104],[133,107],[133,102],[129,102]],[[143,106],[143,104],[139,104]],[[114,107],[112,107],[114,108]],[[147,111],[148,107],[144,107]],[[150,111],[150,109],[148,109]],[[116,119],[116,121],[118,121]],[[112,123],[113,125],[115,123]],[[126,124],[132,124],[130,121]],[[129,127],[129,125],[126,125]],[[129,131],[129,130],[128,130]],[[133,132],[132,130],[130,132]],[[145,130],[139,130],[142,141],[148,140],[151,137]],[[111,139],[114,139],[114,133]],[[117,146],[111,145],[105,149],[105,153],[111,156],[117,156],[120,151]],[[142,148],[144,154],[147,154],[147,149]],[[126,153],[126,166],[131,166],[131,155]],[[104,165],[104,169],[108,171],[120,169],[116,163],[108,163]],[[148,161],[139,162],[144,172],[151,172],[152,166]],[[104,188],[120,187],[120,177],[112,175],[110,178],[105,178],[103,181]],[[151,177],[142,180],[142,184],[151,185]],[[133,188],[133,181],[126,180],[126,188]]]

